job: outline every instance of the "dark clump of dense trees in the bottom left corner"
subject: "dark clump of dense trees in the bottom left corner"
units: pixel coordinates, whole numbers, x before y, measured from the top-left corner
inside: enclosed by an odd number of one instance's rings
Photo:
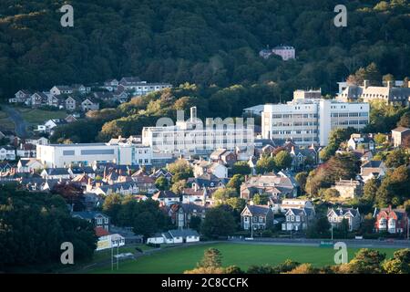
[[[72,218],[60,195],[0,186],[0,272],[59,264],[64,242],[75,246],[76,261],[89,260],[97,246],[93,225]]]

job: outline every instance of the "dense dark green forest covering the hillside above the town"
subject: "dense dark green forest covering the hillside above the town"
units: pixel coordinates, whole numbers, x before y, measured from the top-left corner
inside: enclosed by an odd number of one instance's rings
[[[64,4],[74,7],[74,27],[60,25]],[[340,4],[347,27],[333,25]],[[332,93],[372,62],[402,79],[409,12],[406,0],[2,0],[0,97],[133,75],[176,86],[273,84],[273,102],[296,88]],[[280,44],[297,59],[259,57]]]

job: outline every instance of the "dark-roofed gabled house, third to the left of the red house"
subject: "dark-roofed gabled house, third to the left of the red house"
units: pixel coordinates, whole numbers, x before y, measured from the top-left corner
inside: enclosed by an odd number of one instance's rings
[[[241,226],[244,230],[261,230],[273,225],[273,211],[269,206],[249,204],[241,212]]]

